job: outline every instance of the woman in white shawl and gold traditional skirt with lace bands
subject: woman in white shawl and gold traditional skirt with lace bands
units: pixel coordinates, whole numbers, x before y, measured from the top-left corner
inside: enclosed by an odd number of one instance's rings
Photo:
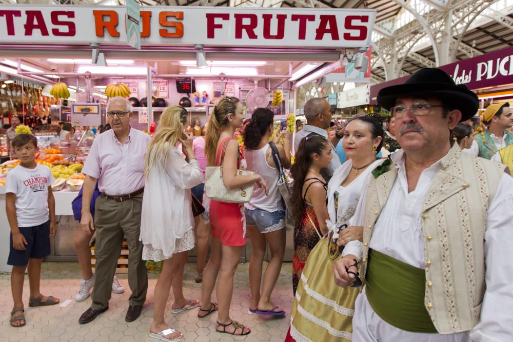
[[[341,255],[335,239],[339,245],[362,241],[363,227],[350,226],[349,219],[366,178],[383,161],[376,159],[383,145],[382,127],[377,118],[369,116],[354,118],[345,127],[343,145],[348,160],[334,172],[327,190],[329,234],[310,253],[292,305],[290,335],[295,340],[351,340],[359,290],[338,287],[331,265]]]

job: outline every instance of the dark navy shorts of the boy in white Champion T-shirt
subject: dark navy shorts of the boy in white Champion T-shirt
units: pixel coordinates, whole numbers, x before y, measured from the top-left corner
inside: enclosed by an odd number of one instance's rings
[[[7,265],[25,266],[29,259],[39,259],[50,255],[50,221],[34,227],[18,227],[27,240],[24,251],[12,246],[12,233],[9,239],[9,257]]]

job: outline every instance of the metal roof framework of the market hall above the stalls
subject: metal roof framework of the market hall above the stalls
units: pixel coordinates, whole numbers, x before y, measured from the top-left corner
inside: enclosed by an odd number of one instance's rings
[[[376,9],[372,80],[384,82],[513,45],[513,0],[140,0],[142,5]],[[0,0],[124,5],[123,0]]]

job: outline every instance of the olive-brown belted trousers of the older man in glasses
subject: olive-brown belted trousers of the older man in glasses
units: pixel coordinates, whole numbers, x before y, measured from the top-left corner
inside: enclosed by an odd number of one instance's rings
[[[143,244],[139,241],[143,198],[116,202],[99,196],[96,199],[94,226],[96,243],[94,256],[95,281],[91,308],[100,310],[108,306],[112,280],[120,256],[123,237],[128,243],[128,285],[132,294],[129,305],[143,305],[148,290],[148,273],[141,256]]]

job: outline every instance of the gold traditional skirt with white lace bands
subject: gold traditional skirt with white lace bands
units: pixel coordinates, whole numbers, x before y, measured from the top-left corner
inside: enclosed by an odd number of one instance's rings
[[[328,238],[313,248],[292,304],[290,335],[297,341],[350,341],[359,288],[335,284]]]

